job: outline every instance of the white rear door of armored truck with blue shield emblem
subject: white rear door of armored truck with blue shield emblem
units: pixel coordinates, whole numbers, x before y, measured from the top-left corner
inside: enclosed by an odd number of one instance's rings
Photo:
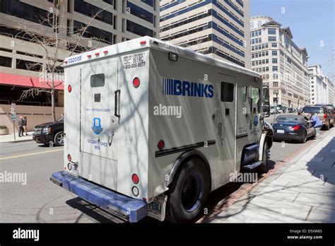
[[[117,65],[113,61],[81,69],[81,165],[83,175],[93,175],[100,184],[105,182],[99,176],[117,161]]]

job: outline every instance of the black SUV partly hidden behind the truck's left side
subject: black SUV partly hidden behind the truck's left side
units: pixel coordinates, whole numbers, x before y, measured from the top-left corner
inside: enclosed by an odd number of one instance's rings
[[[33,139],[37,144],[64,145],[64,117],[56,122],[39,124],[34,127]]]

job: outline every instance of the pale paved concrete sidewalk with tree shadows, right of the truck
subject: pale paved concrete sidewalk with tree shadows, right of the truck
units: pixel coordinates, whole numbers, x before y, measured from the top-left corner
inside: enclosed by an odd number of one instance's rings
[[[335,223],[335,128],[210,223]]]

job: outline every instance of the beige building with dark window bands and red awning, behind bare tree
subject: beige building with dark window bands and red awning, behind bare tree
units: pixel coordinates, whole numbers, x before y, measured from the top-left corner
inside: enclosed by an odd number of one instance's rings
[[[43,20],[56,13],[56,6],[59,28],[52,28]],[[93,20],[92,16],[95,16]],[[88,23],[81,39],[77,35],[78,30]],[[23,27],[31,30],[32,34],[22,32]],[[54,49],[44,49],[33,41],[31,37],[34,37],[34,32],[37,33],[37,29],[38,33],[40,30],[45,32],[45,36],[39,34],[38,38],[57,35],[66,40],[63,49],[58,50],[59,72],[55,75],[58,85],[55,92],[56,106],[63,107],[64,77],[61,64],[70,55],[69,50],[73,49],[76,42],[80,43],[80,47],[75,52],[81,52],[81,47],[94,49],[144,35],[159,37],[159,0],[1,0],[0,105],[9,105],[11,102],[40,107],[51,105],[47,93],[19,100],[22,91],[27,88],[48,88],[47,78],[41,74],[47,71]],[[8,117],[8,112],[1,112],[0,109],[0,113]]]

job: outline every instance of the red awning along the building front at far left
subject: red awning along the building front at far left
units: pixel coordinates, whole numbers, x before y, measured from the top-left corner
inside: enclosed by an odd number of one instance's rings
[[[38,77],[23,76],[18,74],[0,74],[1,85],[24,86],[34,88],[50,88],[47,81],[41,80]],[[51,82],[49,82],[51,85]],[[64,90],[64,81],[55,81],[56,90]]]

